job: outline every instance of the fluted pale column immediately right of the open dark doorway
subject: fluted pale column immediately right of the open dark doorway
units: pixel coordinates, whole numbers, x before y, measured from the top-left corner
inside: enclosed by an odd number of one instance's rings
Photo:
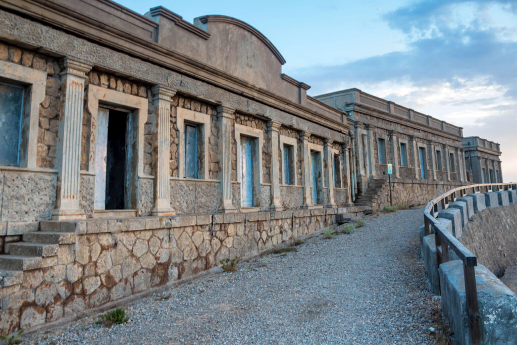
[[[155,125],[153,126],[153,164],[155,168],[155,205],[153,216],[174,216],[175,211],[170,200],[170,138],[171,138],[171,98],[176,90],[161,85],[155,85],[153,106]],[[207,130],[205,128],[205,130]]]

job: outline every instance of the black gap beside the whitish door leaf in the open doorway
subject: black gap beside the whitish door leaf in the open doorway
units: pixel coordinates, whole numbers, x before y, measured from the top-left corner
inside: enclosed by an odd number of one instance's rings
[[[126,190],[126,126],[128,113],[110,110],[106,155],[105,209],[124,209]]]

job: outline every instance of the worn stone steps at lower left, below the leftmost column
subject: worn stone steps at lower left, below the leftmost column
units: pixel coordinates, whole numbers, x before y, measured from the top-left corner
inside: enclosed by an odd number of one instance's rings
[[[2,286],[21,282],[23,271],[57,264],[59,244],[75,243],[75,222],[41,221],[40,231],[23,234],[22,242],[5,245],[0,254]]]

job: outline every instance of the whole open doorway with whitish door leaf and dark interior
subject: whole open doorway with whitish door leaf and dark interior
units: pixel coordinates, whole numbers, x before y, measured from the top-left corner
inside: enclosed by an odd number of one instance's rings
[[[95,209],[130,209],[131,114],[99,108],[95,174]]]

